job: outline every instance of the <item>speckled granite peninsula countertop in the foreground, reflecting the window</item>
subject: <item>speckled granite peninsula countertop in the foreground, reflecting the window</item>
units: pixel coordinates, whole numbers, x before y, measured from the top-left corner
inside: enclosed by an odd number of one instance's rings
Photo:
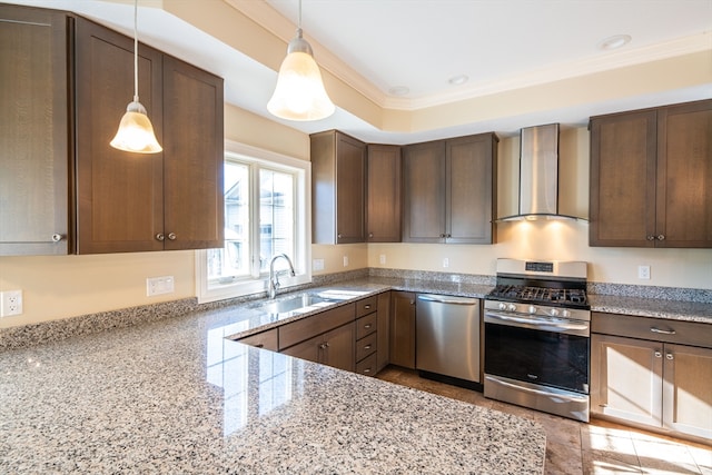
[[[247,307],[0,352],[0,473],[543,473],[536,423],[226,339]]]

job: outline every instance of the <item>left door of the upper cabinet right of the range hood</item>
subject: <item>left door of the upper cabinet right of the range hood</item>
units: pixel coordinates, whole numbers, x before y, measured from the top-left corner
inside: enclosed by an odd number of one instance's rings
[[[591,246],[655,246],[656,117],[645,110],[591,120]]]

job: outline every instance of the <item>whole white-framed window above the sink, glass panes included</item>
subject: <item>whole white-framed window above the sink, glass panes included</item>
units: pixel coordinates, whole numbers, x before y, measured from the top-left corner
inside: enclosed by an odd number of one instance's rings
[[[227,142],[225,247],[196,253],[198,300],[214,301],[267,289],[269,263],[286,254],[296,277],[281,288],[312,280],[308,161]],[[275,269],[285,270],[284,259]]]

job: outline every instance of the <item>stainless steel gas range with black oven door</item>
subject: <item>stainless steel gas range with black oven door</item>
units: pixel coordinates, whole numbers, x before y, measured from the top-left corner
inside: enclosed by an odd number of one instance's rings
[[[589,422],[586,263],[497,259],[485,297],[485,397]]]

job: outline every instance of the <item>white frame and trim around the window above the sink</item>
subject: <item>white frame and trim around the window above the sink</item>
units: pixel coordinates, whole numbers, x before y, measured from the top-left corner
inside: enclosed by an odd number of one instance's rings
[[[286,170],[297,175],[295,187],[295,247],[297,251],[296,256],[289,256],[297,275],[295,277],[280,275],[279,284],[280,288],[285,289],[312,283],[312,162],[231,140],[225,141],[225,156],[234,156],[240,160],[256,162],[267,169]],[[251,206],[257,207],[256,211],[258,214],[259,201]],[[251,208],[250,212],[254,214],[255,208]],[[256,243],[259,243],[258,226],[255,226],[255,228],[251,231],[257,235]],[[254,238],[255,236],[253,236]],[[210,287],[208,283],[207,255],[206,249],[196,250],[195,254],[195,279],[198,303],[224,300],[268,290],[269,276],[265,275],[260,275],[256,279],[240,279],[230,284]]]

